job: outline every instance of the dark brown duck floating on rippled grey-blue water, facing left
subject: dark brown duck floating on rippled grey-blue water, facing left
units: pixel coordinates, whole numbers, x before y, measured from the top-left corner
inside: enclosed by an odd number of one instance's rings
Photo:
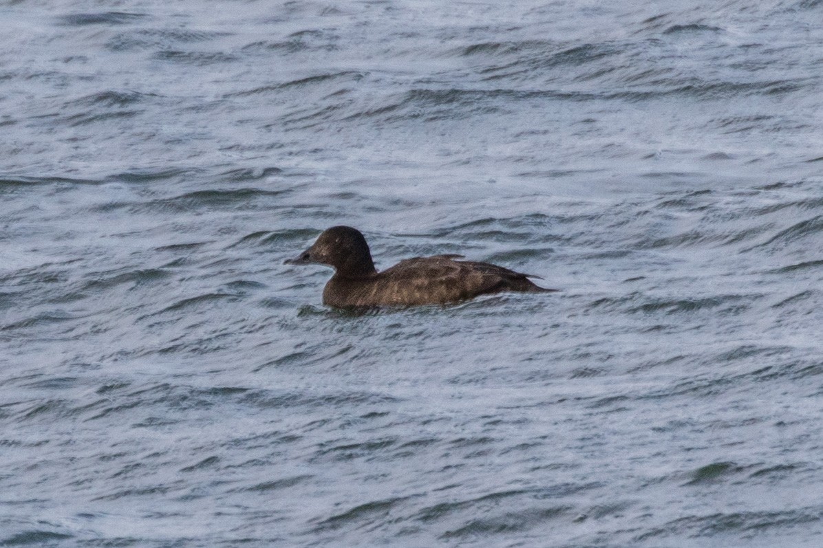
[[[409,258],[377,272],[360,231],[332,226],[299,257],[286,263],[319,263],[334,268],[334,276],[323,290],[323,304],[338,308],[446,304],[500,291],[556,291],[535,285],[528,274],[488,262],[455,260],[460,257]]]

